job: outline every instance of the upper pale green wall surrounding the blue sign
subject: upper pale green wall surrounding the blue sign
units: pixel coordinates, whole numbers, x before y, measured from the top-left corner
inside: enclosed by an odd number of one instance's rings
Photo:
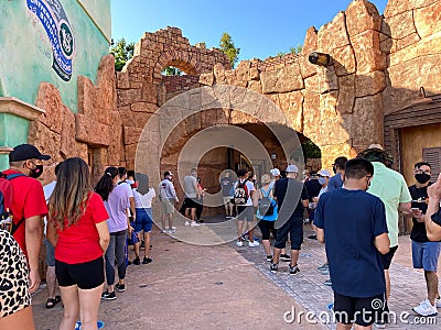
[[[108,36],[101,31],[107,33],[110,26],[110,0],[80,2],[61,0],[76,47],[72,78],[64,81],[52,68],[50,40],[40,20],[28,10],[26,0],[0,0],[0,97],[34,105],[40,82],[49,81],[60,90],[63,102],[77,111],[77,76],[96,82],[99,61],[109,53]],[[90,3],[89,13],[83,7]],[[96,23],[103,26],[98,29]]]

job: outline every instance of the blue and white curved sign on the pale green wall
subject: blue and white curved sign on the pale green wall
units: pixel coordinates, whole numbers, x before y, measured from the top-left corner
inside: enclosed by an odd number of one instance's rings
[[[60,0],[26,0],[29,10],[40,20],[52,46],[52,68],[65,81],[72,77],[75,40]]]

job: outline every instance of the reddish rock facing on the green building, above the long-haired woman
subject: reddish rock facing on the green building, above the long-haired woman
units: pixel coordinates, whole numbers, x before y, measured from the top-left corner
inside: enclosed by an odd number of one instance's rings
[[[121,120],[116,110],[114,56],[103,57],[96,85],[80,76],[77,86],[78,112],[74,114],[53,85],[41,82],[35,106],[45,113],[31,122],[29,143],[51,155],[51,163],[82,157],[92,166],[95,183],[105,167],[123,165],[120,162],[123,154]],[[53,166],[46,167],[43,182],[53,179]]]

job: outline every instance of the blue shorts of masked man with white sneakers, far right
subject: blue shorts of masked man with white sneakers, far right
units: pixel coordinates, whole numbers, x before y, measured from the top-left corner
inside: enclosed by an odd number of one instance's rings
[[[422,268],[426,272],[437,272],[440,251],[441,242],[412,241],[413,268]]]

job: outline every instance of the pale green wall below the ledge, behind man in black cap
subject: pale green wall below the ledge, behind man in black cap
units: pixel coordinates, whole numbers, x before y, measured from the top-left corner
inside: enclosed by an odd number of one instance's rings
[[[15,146],[28,142],[29,121],[9,113],[0,113],[0,146]],[[8,168],[8,155],[0,155],[0,170]]]

